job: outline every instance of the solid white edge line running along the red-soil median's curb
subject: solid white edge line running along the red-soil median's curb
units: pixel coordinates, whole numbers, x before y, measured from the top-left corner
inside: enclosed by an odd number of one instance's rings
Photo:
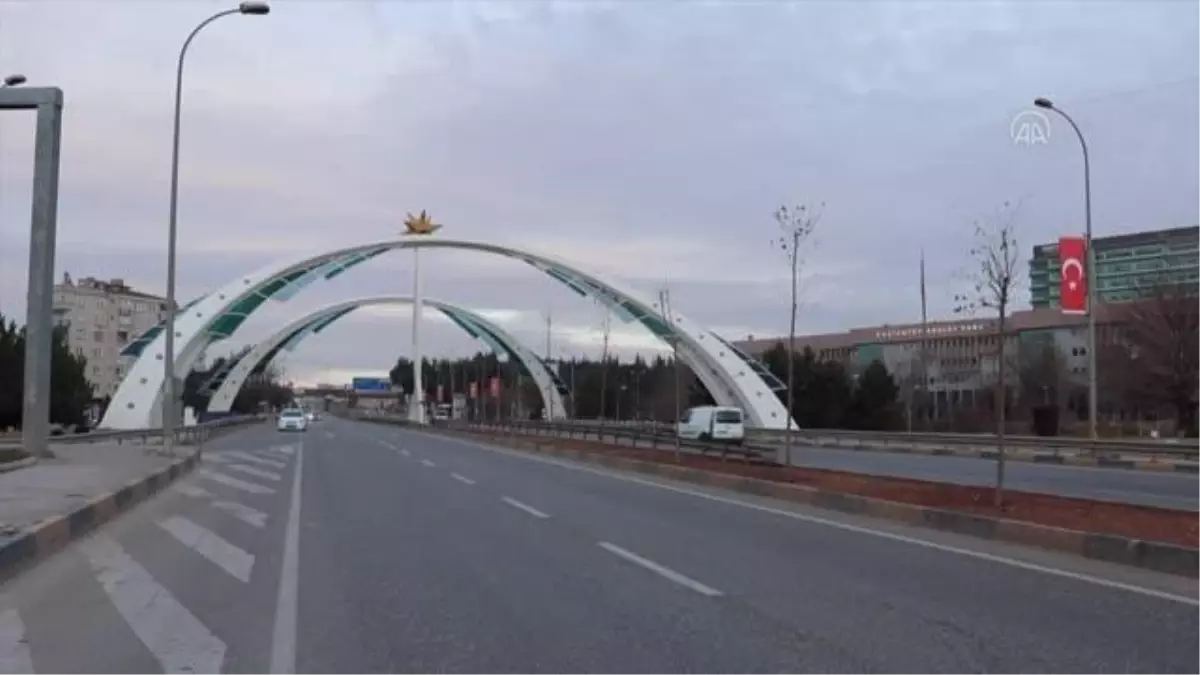
[[[431,435],[431,436],[433,436],[433,435]],[[445,437],[438,437],[438,436],[433,436],[433,437],[440,438],[443,441],[446,440]],[[751,509],[751,510],[757,510],[757,512],[762,512],[762,513],[769,513],[769,514],[773,514],[773,515],[781,515],[784,518],[791,518],[792,520],[802,520],[804,522],[812,522],[814,525],[824,525],[826,527],[833,527],[833,528],[836,528],[836,530],[842,530],[845,532],[854,532],[857,534],[869,534],[871,537],[880,537],[880,538],[883,538],[883,539],[890,539],[893,542],[901,542],[901,543],[905,543],[905,544],[912,544],[914,546],[924,546],[926,549],[932,549],[932,550],[936,550],[936,551],[942,551],[942,552],[948,552],[948,554],[954,554],[954,555],[961,555],[961,556],[965,556],[965,557],[973,557],[976,560],[984,560],[984,561],[995,562],[995,563],[998,563],[998,565],[1007,565],[1009,567],[1015,567],[1018,569],[1025,569],[1025,571],[1028,571],[1028,572],[1038,572],[1038,573],[1042,573],[1042,574],[1049,574],[1051,577],[1060,577],[1060,578],[1063,578],[1063,579],[1072,579],[1074,581],[1082,581],[1085,584],[1094,584],[1097,586],[1104,586],[1106,589],[1115,589],[1115,590],[1118,590],[1118,591],[1127,591],[1127,592],[1130,592],[1130,593],[1136,593],[1139,596],[1146,596],[1146,597],[1151,597],[1151,598],[1158,598],[1158,599],[1163,599],[1163,601],[1169,601],[1169,602],[1175,602],[1175,603],[1180,603],[1180,604],[1186,604],[1186,605],[1189,605],[1189,607],[1200,607],[1200,598],[1193,598],[1193,597],[1188,597],[1188,596],[1181,596],[1181,595],[1171,593],[1171,592],[1168,592],[1168,591],[1159,591],[1157,589],[1148,589],[1146,586],[1138,586],[1135,584],[1126,584],[1124,581],[1116,581],[1116,580],[1112,580],[1112,579],[1104,579],[1103,577],[1096,577],[1096,575],[1092,575],[1092,574],[1085,574],[1082,572],[1070,572],[1068,569],[1060,569],[1057,567],[1049,567],[1049,566],[1045,566],[1045,565],[1038,565],[1036,562],[1027,562],[1027,561],[1018,560],[1018,558],[1014,558],[1014,557],[1006,557],[1006,556],[1002,556],[1002,555],[988,554],[988,552],[983,552],[983,551],[974,551],[974,550],[971,550],[971,549],[964,549],[964,548],[959,548],[959,546],[952,546],[949,544],[940,544],[937,542],[931,542],[929,539],[922,539],[919,537],[907,537],[905,534],[896,534],[895,532],[886,532],[883,530],[874,530],[871,527],[864,527],[864,526],[860,526],[860,525],[851,525],[848,522],[839,522],[836,520],[829,520],[827,518],[821,518],[818,515],[808,515],[808,514],[804,514],[804,513],[798,513],[798,512],[793,512],[793,510],[786,510],[786,509],[781,509],[781,508],[774,508],[774,507],[769,507],[769,506],[766,506],[766,504],[756,504],[756,503],[745,502],[745,501],[742,501],[742,500],[734,500],[732,497],[725,497],[725,496],[721,496],[721,495],[709,495],[707,492],[701,492],[698,490],[690,490],[688,488],[680,488],[680,486],[676,486],[676,485],[666,485],[664,483],[655,483],[653,480],[643,480],[643,479],[634,477],[634,476],[623,476],[623,474],[619,474],[619,473],[612,473],[612,472],[604,471],[604,470],[600,470],[600,468],[592,468],[590,466],[581,466],[581,465],[568,464],[568,462],[558,461],[558,460],[553,460],[553,459],[546,459],[546,458],[540,458],[540,456],[527,455],[527,454],[523,454],[523,453],[518,453],[516,450],[508,450],[508,449],[504,449],[504,448],[490,447],[490,446],[486,446],[484,443],[475,443],[475,442],[472,442],[472,441],[458,441],[458,442],[463,443],[463,444],[468,444],[468,446],[475,446],[478,448],[481,448],[481,449],[485,449],[485,450],[488,450],[488,452],[500,453],[503,455],[512,456],[512,458],[516,458],[516,459],[523,459],[523,460],[527,460],[527,461],[540,461],[542,464],[548,464],[548,465],[558,466],[558,467],[562,467],[562,468],[569,468],[571,471],[583,471],[586,473],[594,473],[596,476],[605,476],[607,478],[614,478],[617,480],[624,480],[626,483],[634,483],[636,485],[644,485],[647,488],[656,488],[659,490],[667,490],[670,492],[677,492],[677,494],[680,494],[680,495],[689,495],[689,496],[692,496],[692,497],[698,497],[701,500],[708,500],[710,502],[719,502],[719,503],[724,503],[724,504],[739,506],[739,507],[748,508],[748,509]]]

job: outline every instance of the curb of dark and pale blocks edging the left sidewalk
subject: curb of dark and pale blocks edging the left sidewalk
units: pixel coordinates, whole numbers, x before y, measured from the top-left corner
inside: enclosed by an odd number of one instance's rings
[[[199,452],[193,452],[120,490],[100,495],[67,513],[52,515],[0,543],[0,584],[157,494],[196,468],[199,461]]]

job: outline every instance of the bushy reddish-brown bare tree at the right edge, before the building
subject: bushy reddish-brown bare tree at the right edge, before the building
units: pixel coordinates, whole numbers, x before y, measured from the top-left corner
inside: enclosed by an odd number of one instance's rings
[[[1194,285],[1160,280],[1129,306],[1124,338],[1139,374],[1139,398],[1169,407],[1183,432],[1195,428],[1200,386],[1200,294]]]

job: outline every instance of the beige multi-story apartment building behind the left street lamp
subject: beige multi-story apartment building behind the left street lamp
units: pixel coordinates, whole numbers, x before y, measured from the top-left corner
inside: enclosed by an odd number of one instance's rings
[[[54,313],[67,327],[67,346],[86,359],[88,381],[97,399],[112,396],[130,364],[121,350],[166,318],[166,300],[134,291],[120,279],[72,281],[54,286]]]

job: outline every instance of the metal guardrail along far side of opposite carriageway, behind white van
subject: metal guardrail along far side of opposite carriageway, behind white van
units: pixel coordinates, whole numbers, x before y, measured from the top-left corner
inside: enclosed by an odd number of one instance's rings
[[[534,424],[548,424],[534,422]],[[554,424],[570,424],[584,426],[626,428],[626,422],[576,419],[556,422]],[[655,429],[662,434],[673,434],[674,425],[664,422],[638,422],[632,426],[640,429]],[[784,444],[785,431],[781,429],[746,429],[746,440],[756,446],[778,447]],[[995,434],[944,434],[944,432],[904,432],[904,431],[857,431],[850,429],[798,429],[792,432],[792,438],[797,443],[810,446],[833,446],[854,448],[877,447],[913,447],[925,446],[944,449],[983,448],[994,450],[998,443]],[[1004,436],[1004,446],[1008,448],[1042,449],[1054,454],[1063,450],[1084,454],[1135,454],[1135,455],[1159,455],[1176,456],[1181,459],[1200,460],[1200,443],[1186,440],[1116,440],[1103,438],[1092,441],[1090,438],[1074,438],[1063,436]]]

